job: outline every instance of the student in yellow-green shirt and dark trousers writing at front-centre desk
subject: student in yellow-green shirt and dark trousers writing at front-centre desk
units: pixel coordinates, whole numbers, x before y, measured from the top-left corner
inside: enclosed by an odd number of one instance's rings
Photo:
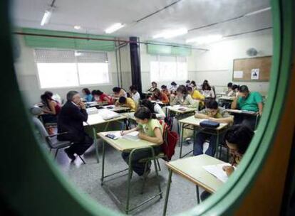
[[[155,155],[159,154],[162,151],[162,125],[160,124],[157,119],[152,119],[152,112],[147,107],[140,107],[138,111],[134,114],[136,121],[138,122],[138,126],[134,129],[128,131],[122,131],[122,135],[128,134],[133,131],[139,131],[138,138],[150,141],[152,143],[157,144],[157,146],[153,147],[155,151]],[[122,157],[126,163],[129,161],[130,152],[123,152]],[[140,163],[139,161],[143,158],[148,158],[152,156],[150,149],[136,151],[133,154],[133,161],[132,161],[132,169],[140,176],[145,178],[150,173],[150,166],[151,162],[148,163],[148,169],[146,173],[145,171],[145,163]]]

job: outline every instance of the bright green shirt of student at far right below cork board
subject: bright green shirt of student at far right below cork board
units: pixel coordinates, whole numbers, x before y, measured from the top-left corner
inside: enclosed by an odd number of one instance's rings
[[[237,108],[241,110],[248,110],[258,112],[258,104],[262,103],[262,95],[259,92],[249,92],[247,98],[239,97],[237,100]]]

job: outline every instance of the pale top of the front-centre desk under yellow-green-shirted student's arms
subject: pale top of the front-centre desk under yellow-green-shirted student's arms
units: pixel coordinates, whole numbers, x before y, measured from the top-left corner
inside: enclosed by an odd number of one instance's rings
[[[117,131],[107,131],[107,132],[100,132],[98,136],[100,136],[103,141],[113,146],[113,148],[117,149],[118,151],[131,151],[133,148],[140,148],[145,146],[157,146],[157,144],[151,143],[149,141],[145,141],[140,139],[139,141],[133,141],[130,139],[119,138],[119,139],[110,139],[106,137],[106,134],[112,134]]]

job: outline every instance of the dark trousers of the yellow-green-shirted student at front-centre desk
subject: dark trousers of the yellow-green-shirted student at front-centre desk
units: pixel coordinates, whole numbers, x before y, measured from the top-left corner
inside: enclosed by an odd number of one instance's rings
[[[162,146],[155,146],[153,148],[155,151],[155,156],[157,156],[157,154],[162,151]],[[130,155],[130,152],[122,153],[122,157],[127,164],[129,163],[129,155]],[[135,173],[137,173],[138,175],[143,175],[145,171],[145,163],[140,163],[139,161],[141,159],[148,158],[151,156],[152,156],[152,152],[150,151],[150,149],[140,149],[138,151],[135,151],[135,153],[133,153],[133,157],[131,161],[131,166],[133,171],[135,171]],[[151,163],[148,163],[147,170],[150,169],[150,165]]]

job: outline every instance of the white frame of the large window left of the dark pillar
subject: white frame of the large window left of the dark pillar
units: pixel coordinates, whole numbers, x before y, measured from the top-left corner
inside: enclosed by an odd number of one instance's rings
[[[58,49],[58,48],[36,48],[33,50],[33,57],[34,57],[34,62],[35,62],[35,67],[36,67],[36,77],[37,77],[37,81],[38,81],[38,87],[40,90],[60,90],[60,89],[68,89],[68,88],[78,88],[78,87],[97,87],[99,86],[108,86],[108,85],[113,85],[113,77],[112,77],[112,72],[110,71],[111,67],[110,67],[110,53],[109,52],[105,52],[107,57],[108,57],[108,81],[109,82],[105,82],[105,83],[97,83],[97,84],[89,84],[89,85],[81,85],[80,84],[80,76],[79,76],[79,72],[78,72],[78,61],[76,58],[76,75],[78,78],[78,85],[73,85],[73,86],[67,86],[67,87],[41,87],[41,80],[39,77],[39,72],[38,72],[38,62],[36,61],[36,52],[35,50],[37,49],[43,49],[43,50],[69,50],[69,51],[76,51],[76,52],[95,52],[95,50],[73,50],[73,49]],[[103,52],[103,51],[98,51],[98,52]]]

